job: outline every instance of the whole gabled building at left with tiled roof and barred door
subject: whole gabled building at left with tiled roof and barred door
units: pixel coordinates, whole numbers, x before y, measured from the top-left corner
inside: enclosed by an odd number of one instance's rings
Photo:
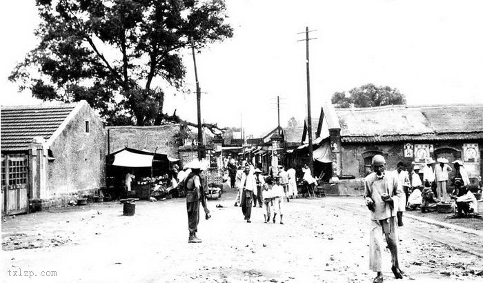
[[[86,101],[1,108],[3,215],[61,206],[105,186],[103,123]]]

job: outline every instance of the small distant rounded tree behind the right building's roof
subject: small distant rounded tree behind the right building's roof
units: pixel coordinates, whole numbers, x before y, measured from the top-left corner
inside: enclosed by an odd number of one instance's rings
[[[345,92],[335,92],[331,100],[339,108],[406,104],[406,97],[397,88],[374,86],[374,84],[353,88],[349,90],[348,97]]]

